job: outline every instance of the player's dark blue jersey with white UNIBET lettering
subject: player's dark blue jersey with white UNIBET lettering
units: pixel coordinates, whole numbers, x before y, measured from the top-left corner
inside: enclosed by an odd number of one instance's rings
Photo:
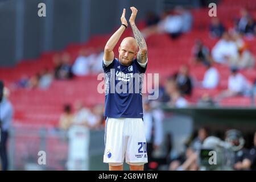
[[[139,65],[137,59],[129,66],[122,65],[118,59],[106,66],[105,73],[105,117],[142,118],[142,85],[146,67]]]

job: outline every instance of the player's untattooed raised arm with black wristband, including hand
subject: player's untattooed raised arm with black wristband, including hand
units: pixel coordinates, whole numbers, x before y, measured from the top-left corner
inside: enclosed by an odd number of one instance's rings
[[[121,22],[122,24],[125,24],[126,27],[128,26],[127,21],[125,19],[125,9],[123,9],[123,14],[121,16]],[[118,40],[120,39],[121,35],[125,31],[125,26],[121,25],[120,28],[110,37],[108,42],[106,43],[105,49],[104,49],[104,64],[110,64],[114,60],[114,52],[113,49],[115,45],[117,44]],[[105,63],[107,62],[107,63]],[[109,63],[108,63],[109,62]]]

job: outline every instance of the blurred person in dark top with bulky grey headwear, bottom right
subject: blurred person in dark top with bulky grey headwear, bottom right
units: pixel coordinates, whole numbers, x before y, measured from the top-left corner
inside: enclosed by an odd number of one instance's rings
[[[233,149],[235,150],[233,168],[235,170],[249,170],[251,166],[251,160],[249,156],[249,151],[243,147],[245,140],[242,137],[241,131],[226,131],[225,141],[232,144]]]

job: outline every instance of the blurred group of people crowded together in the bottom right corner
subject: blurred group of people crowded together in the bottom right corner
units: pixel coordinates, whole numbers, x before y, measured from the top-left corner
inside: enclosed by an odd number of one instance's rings
[[[172,158],[169,164],[171,171],[198,171],[198,170],[256,170],[256,132],[253,145],[245,147],[245,138],[241,131],[236,129],[226,130],[224,138],[221,140],[214,135],[210,135],[209,129],[201,127],[197,131],[196,137],[192,137],[184,146],[184,152],[176,158]],[[246,141],[248,143],[248,141]],[[218,164],[210,166],[206,163],[204,150],[212,150],[217,153]],[[221,151],[221,152],[220,152]],[[226,152],[226,153],[225,153]],[[225,155],[226,154],[226,155]],[[223,158],[222,158],[223,157]],[[217,163],[217,162],[216,162]]]

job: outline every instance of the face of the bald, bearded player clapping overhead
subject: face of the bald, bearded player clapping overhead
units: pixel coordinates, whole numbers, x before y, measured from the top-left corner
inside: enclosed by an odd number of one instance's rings
[[[133,44],[123,43],[118,49],[119,61],[123,65],[130,65],[137,56],[137,47]]]

